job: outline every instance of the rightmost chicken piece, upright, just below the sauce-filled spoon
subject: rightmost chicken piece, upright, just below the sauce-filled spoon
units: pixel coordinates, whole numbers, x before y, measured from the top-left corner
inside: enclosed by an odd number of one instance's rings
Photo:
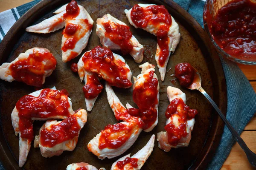
[[[169,152],[172,147],[187,147],[195,125],[195,109],[185,104],[186,95],[178,88],[169,86],[167,95],[170,105],[166,110],[165,132],[157,133],[158,147]],[[184,120],[185,119],[185,120]]]

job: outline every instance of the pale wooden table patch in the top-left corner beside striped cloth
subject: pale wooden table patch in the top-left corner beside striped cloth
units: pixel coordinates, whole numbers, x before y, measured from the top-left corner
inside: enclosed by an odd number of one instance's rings
[[[32,0],[0,0],[0,12],[15,8],[24,3],[29,3]]]

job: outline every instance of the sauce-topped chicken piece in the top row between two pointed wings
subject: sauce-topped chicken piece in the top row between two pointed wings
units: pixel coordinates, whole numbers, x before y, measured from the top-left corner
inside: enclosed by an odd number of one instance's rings
[[[143,60],[144,47],[132,35],[130,28],[110,14],[97,19],[96,34],[101,44],[111,50],[121,50],[122,54],[130,54],[135,62]]]

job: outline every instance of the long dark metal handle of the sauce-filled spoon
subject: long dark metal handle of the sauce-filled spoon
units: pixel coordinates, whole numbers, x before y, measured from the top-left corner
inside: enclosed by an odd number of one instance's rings
[[[218,108],[218,106],[215,104],[215,102],[212,100],[212,98],[206,93],[206,91],[204,91],[204,89],[202,87],[200,87],[198,89],[202,94],[204,94],[204,96],[209,100],[209,102],[212,104],[212,106],[215,108],[215,110],[218,112],[219,116],[221,116],[221,119],[225,122],[225,124],[227,125],[227,127],[229,128],[230,132],[232,133],[232,135],[234,136],[234,138],[236,139],[237,143],[240,145],[240,147],[244,150],[244,152],[246,153],[248,159],[252,159],[254,158],[255,160],[255,153],[253,153],[245,144],[244,140],[239,136],[239,134],[236,132],[236,130],[230,125],[230,123],[227,121],[226,117],[224,116],[224,114],[221,112],[221,110]],[[256,161],[256,160],[255,160]],[[250,162],[254,167],[256,167],[256,163],[255,162]]]

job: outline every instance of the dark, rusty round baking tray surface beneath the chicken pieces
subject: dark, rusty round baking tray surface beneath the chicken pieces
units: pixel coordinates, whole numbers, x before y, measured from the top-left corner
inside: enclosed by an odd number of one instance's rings
[[[201,74],[203,80],[202,86],[205,91],[215,100],[221,110],[226,113],[226,83],[221,62],[219,61],[217,53],[213,50],[212,46],[209,45],[209,40],[204,30],[186,11],[171,0],[80,0],[78,3],[84,6],[95,21],[93,24],[93,32],[87,47],[83,50],[81,55],[71,62],[64,63],[61,61],[62,30],[50,34],[33,34],[25,32],[25,28],[39,23],[45,18],[51,17],[55,9],[68,2],[69,1],[63,0],[43,0],[23,15],[0,44],[0,64],[13,61],[20,53],[25,52],[29,48],[48,48],[55,56],[58,63],[53,74],[46,79],[44,88],[56,86],[59,90],[67,89],[70,94],[73,109],[86,108],[82,91],[84,82],[80,82],[78,74],[71,71],[70,65],[72,62],[78,62],[84,52],[100,44],[99,38],[96,35],[96,19],[109,13],[130,26],[134,36],[145,48],[142,63],[150,62],[156,65],[154,54],[156,52],[157,38],[142,29],[136,29],[131,26],[125,17],[124,10],[131,8],[137,3],[165,5],[169,13],[179,24],[181,38],[175,53],[171,55],[168,62],[165,81],[159,81],[159,122],[150,133],[142,132],[134,145],[121,156],[128,153],[133,155],[148,142],[152,134],[156,135],[157,132],[164,130],[166,123],[164,113],[169,105],[166,88],[168,86],[174,86],[180,88],[186,94],[187,105],[198,110],[198,115],[195,117],[196,123],[192,132],[191,142],[188,147],[172,149],[169,153],[166,153],[158,148],[158,143],[155,140],[154,150],[142,169],[182,170],[188,168],[205,168],[218,146],[223,130],[223,122],[221,122],[212,106],[200,92],[181,88],[177,81],[174,80],[175,77],[173,77],[174,66],[177,63],[189,62]],[[119,51],[114,52],[120,54]],[[129,55],[123,57],[130,66],[133,76],[140,74],[141,70],[138,67],[139,64],[134,62]],[[156,74],[160,79],[157,67]],[[102,81],[102,83],[105,84],[104,81]],[[113,89],[122,103],[125,104],[129,102],[135,106],[132,100],[132,88],[125,90],[119,88]],[[15,136],[12,127],[11,113],[20,97],[30,94],[33,91],[35,91],[33,87],[25,85],[24,83],[16,81],[9,83],[0,80],[0,159],[7,169],[20,169],[17,164],[19,139]],[[35,121],[35,134],[38,134],[38,130],[43,123],[44,121]],[[87,150],[87,144],[100,130],[104,129],[106,125],[114,123],[117,123],[117,121],[108,104],[106,92],[103,90],[96,100],[93,110],[88,112],[88,121],[81,130],[77,146],[73,152],[64,151],[61,156],[44,158],[41,156],[40,149],[32,146],[23,168],[26,170],[64,170],[68,164],[84,161],[97,168],[105,167],[109,170],[113,162],[121,156],[113,159],[106,158],[100,160]]]

